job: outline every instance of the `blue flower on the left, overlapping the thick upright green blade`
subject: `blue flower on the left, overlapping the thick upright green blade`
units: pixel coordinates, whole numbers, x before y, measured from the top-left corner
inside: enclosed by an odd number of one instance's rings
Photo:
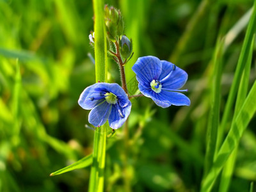
[[[108,120],[113,129],[121,127],[131,112],[131,102],[124,90],[116,83],[95,83],[81,93],[78,104],[92,109],[89,123],[99,127]]]

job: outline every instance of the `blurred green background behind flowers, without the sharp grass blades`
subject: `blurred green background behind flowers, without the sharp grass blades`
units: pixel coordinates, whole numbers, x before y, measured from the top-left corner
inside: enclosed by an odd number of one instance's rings
[[[129,174],[133,191],[199,191],[210,110],[209,73],[218,35],[225,42],[221,113],[241,51],[251,0],[120,0],[125,34],[134,56],[125,66],[134,92],[132,65],[154,55],[188,72],[190,107],[157,107],[132,100]],[[233,26],[236,30],[228,33]],[[93,131],[77,104],[95,83],[88,35],[91,1],[0,0],[0,191],[87,191],[90,168],[49,174],[90,154]],[[253,49],[255,52],[255,46]],[[210,72],[209,72],[210,71]],[[118,82],[109,59],[109,82]],[[255,79],[253,57],[250,84]],[[136,90],[135,90],[136,91]],[[256,119],[243,134],[229,191],[249,191],[256,180]],[[254,128],[254,129],[253,129]],[[107,140],[105,191],[124,191],[122,128]],[[218,180],[217,180],[218,182]],[[214,188],[213,191],[218,191]]]

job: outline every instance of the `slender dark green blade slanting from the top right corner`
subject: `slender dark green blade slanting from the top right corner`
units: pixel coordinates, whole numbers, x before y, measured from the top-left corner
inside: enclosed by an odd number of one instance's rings
[[[220,147],[221,142],[223,140],[224,130],[228,121],[228,117],[230,116],[231,108],[234,104],[239,82],[241,80],[241,76],[243,73],[243,68],[244,68],[244,65],[246,64],[246,60],[250,52],[250,46],[251,46],[253,34],[255,33],[255,29],[256,29],[256,1],[253,4],[253,13],[250,18],[248,28],[246,30],[246,35],[244,38],[241,54],[239,55],[239,60],[237,63],[234,80],[230,88],[230,93],[228,94],[227,104],[225,105],[223,117],[220,124],[220,129],[218,131],[218,140],[217,140],[217,147],[216,147],[217,150]]]

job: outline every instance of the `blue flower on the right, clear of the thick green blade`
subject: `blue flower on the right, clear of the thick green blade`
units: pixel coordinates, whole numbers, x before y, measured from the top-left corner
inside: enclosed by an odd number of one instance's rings
[[[138,58],[132,70],[139,82],[139,90],[150,97],[157,106],[189,106],[190,100],[179,90],[187,81],[188,74],[173,63],[160,61],[154,56]]]

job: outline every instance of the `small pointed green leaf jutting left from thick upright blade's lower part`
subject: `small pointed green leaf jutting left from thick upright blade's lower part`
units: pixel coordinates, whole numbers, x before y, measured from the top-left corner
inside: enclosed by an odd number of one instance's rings
[[[83,157],[83,159],[80,159],[76,163],[70,164],[70,165],[66,166],[65,168],[62,168],[61,170],[51,173],[50,176],[60,175],[62,173],[70,172],[72,170],[85,168],[86,166],[90,166],[92,164],[92,160],[93,160],[92,154],[90,154],[86,157]]]

